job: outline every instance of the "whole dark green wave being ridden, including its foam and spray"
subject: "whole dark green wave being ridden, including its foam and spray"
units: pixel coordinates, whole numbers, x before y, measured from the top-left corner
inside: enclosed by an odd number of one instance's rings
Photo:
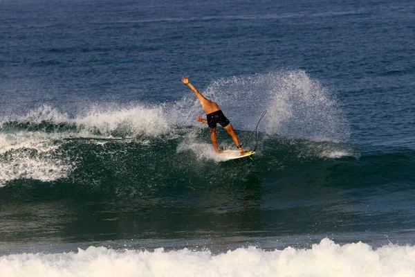
[[[163,202],[170,195],[168,201],[195,204],[218,191],[230,201],[212,196],[211,208],[239,211],[247,189],[257,197],[248,202],[252,208],[277,211],[289,201],[302,208],[323,203],[327,187],[349,208],[367,190],[412,195],[414,151],[353,144],[338,100],[304,71],[221,79],[203,93],[220,103],[245,148],[257,145],[255,161],[221,162],[208,128],[195,120],[201,107],[192,95],[162,105],[89,105],[71,116],[42,105],[0,122],[0,201]],[[222,128],[218,140],[222,149],[235,147]],[[299,198],[280,198],[289,191]]]

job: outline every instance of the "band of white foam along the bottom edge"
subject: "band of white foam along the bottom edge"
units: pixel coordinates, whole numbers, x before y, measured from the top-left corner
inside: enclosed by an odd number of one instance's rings
[[[210,251],[116,251],[105,247],[77,253],[23,253],[0,257],[0,277],[24,276],[415,276],[415,247],[371,249],[358,242],[340,246],[329,239],[311,249],[282,251],[240,248]]]

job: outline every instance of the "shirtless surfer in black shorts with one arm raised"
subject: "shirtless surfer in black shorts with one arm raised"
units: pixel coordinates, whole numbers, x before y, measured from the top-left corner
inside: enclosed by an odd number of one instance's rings
[[[235,145],[237,145],[237,148],[241,154],[243,152],[247,152],[247,150],[244,150],[241,146],[241,143],[239,143],[239,139],[237,134],[235,134],[235,131],[232,127],[232,124],[230,124],[228,118],[225,117],[223,112],[221,111],[221,108],[216,104],[216,102],[213,102],[212,100],[209,100],[208,98],[205,98],[205,96],[200,93],[196,87],[193,86],[193,84],[190,84],[189,77],[183,77],[182,82],[187,85],[194,94],[196,94],[196,97],[201,102],[201,105],[203,107],[203,110],[206,113],[207,119],[204,119],[199,114],[196,118],[197,121],[206,123],[209,126],[210,129],[210,139],[212,140],[213,148],[216,153],[221,153],[222,150],[219,150],[218,143],[216,141],[216,123],[219,123],[222,125],[223,129],[228,132],[230,137],[232,138],[232,141],[234,141]]]

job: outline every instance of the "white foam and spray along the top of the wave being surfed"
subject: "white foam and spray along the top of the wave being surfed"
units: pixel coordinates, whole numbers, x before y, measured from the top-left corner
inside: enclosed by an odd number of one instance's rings
[[[252,129],[266,109],[259,125],[259,149],[275,145],[274,141],[279,147],[291,147],[294,142],[299,158],[359,157],[348,145],[349,125],[338,100],[304,71],[221,79],[199,89],[219,102],[246,148],[257,143]],[[13,179],[69,177],[75,168],[86,166],[81,164],[82,149],[86,149],[82,145],[91,143],[118,142],[127,148],[131,143],[161,144],[174,148],[176,154],[191,152],[199,160],[220,161],[212,152],[206,128],[194,120],[203,112],[201,105],[191,91],[186,93],[191,94],[161,105],[89,105],[70,116],[45,104],[26,114],[4,116],[0,121],[0,184]],[[228,134],[221,131],[219,146],[233,149]],[[102,151],[98,155],[108,154]],[[156,151],[150,149],[149,155],[157,156]]]

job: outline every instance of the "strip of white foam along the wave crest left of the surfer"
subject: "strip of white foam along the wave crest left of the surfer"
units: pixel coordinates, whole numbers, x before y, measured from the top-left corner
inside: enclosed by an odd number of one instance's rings
[[[0,127],[9,122],[30,123],[31,125],[43,122],[66,123],[75,128],[68,128],[66,131],[61,129],[59,132],[71,137],[160,136],[171,131],[169,120],[162,106],[118,107],[113,105],[111,107],[107,105],[100,107],[93,105],[85,107],[82,113],[70,117],[50,105],[42,105],[24,115],[6,116],[1,120]]]

